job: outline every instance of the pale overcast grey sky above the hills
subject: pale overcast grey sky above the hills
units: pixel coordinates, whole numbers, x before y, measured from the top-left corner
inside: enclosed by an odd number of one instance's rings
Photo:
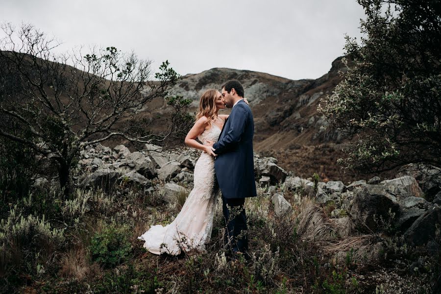
[[[76,46],[134,50],[180,74],[215,67],[318,78],[359,37],[356,0],[0,0],[0,21]]]

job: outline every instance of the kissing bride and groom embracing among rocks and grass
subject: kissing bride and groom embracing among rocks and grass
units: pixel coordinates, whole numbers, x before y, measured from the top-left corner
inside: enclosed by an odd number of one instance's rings
[[[218,114],[225,107],[232,108],[231,114]],[[194,188],[172,223],[153,225],[138,237],[148,251],[171,255],[204,252],[221,190],[224,244],[229,253],[247,252],[245,197],[257,195],[253,133],[253,115],[239,81],[227,81],[221,93],[211,89],[202,94],[196,123],[185,138],[185,144],[204,151],[195,165]]]

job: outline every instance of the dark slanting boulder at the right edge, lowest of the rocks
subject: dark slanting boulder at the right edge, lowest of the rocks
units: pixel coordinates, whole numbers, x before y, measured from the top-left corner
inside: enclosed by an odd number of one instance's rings
[[[435,239],[441,223],[441,207],[431,206],[404,233],[404,240],[410,245],[424,245]]]

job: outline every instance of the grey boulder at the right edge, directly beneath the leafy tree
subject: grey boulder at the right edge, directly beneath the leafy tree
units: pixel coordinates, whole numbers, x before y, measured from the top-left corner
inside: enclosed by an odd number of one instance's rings
[[[417,165],[414,163],[402,166],[396,176],[410,175],[414,177],[424,197],[432,201],[438,192],[441,191],[441,169],[431,165]]]

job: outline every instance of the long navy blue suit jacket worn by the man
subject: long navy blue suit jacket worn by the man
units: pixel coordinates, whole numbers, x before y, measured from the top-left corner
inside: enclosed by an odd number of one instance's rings
[[[253,134],[253,114],[244,100],[240,100],[222,128],[219,141],[213,145],[216,149],[214,153],[218,154],[215,159],[216,177],[225,198],[257,196]]]

